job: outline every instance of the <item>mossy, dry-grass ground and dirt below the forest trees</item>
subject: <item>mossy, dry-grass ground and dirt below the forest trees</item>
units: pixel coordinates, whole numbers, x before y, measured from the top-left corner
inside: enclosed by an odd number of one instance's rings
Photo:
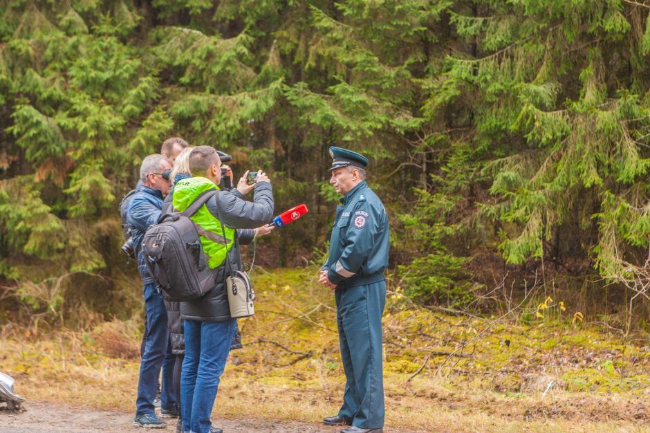
[[[215,425],[337,432],[320,424],[336,413],[344,387],[331,292],[317,286],[314,270],[256,273],[257,312],[239,322],[245,347],[230,354]],[[485,317],[417,307],[391,291],[384,431],[650,432],[647,333],[623,335],[537,296]],[[88,332],[3,326],[0,371],[27,401],[24,412],[0,410],[0,433],[138,431],[139,322]]]

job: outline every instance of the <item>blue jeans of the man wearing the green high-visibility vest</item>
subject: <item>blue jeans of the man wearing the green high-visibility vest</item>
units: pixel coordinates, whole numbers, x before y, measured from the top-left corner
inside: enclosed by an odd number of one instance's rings
[[[185,432],[210,432],[210,414],[236,323],[185,320],[185,359],[180,374],[180,414]]]

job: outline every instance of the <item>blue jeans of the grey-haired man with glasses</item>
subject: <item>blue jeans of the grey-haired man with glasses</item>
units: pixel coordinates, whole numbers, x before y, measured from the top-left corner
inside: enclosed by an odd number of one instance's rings
[[[154,284],[145,285],[145,310],[147,311],[147,337],[145,351],[140,361],[138,380],[138,400],[136,415],[154,414],[154,399],[158,391],[158,376],[163,369],[163,384],[160,389],[160,406],[171,409],[176,404],[174,398],[174,355],[169,344],[167,329],[167,309],[163,296],[156,292]]]

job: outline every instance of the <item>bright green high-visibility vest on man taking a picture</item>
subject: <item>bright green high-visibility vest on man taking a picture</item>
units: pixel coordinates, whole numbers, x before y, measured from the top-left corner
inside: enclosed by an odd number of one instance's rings
[[[205,177],[192,177],[176,182],[172,201],[174,209],[178,210],[178,212],[183,212],[183,210],[192,204],[192,201],[196,199],[198,194],[208,190],[219,190],[219,187]],[[207,210],[205,205],[201,206],[190,219],[208,232],[223,236],[221,222],[219,222],[216,216],[210,213],[210,210]],[[226,225],[223,228],[225,229],[225,237],[228,239],[228,245],[212,241],[203,235],[200,236],[203,251],[210,257],[208,264],[213,269],[223,263],[226,253],[234,245],[234,228],[227,227]]]

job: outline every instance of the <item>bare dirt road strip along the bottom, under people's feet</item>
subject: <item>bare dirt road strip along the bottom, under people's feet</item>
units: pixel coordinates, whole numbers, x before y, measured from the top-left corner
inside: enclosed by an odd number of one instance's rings
[[[225,433],[338,433],[341,427],[326,427],[313,423],[269,419],[215,420]],[[27,401],[20,412],[0,409],[0,433],[124,433],[176,432],[176,420],[167,429],[142,429],[133,425],[133,414],[81,409],[65,405]],[[390,433],[416,433],[384,429]],[[418,432],[419,433],[419,432]]]

